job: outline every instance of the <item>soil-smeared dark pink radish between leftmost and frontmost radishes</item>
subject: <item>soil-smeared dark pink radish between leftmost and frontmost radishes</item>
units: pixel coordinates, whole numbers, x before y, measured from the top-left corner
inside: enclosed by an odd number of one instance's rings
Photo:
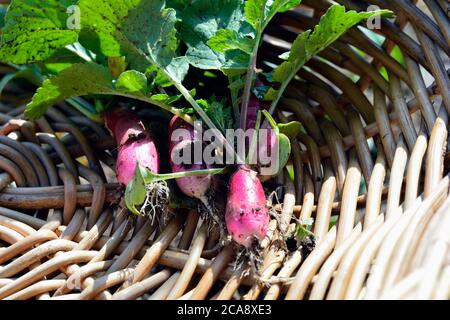
[[[173,161],[173,155],[186,150],[186,152],[193,152],[193,144],[199,143],[195,137],[194,127],[183,121],[181,118],[174,116],[169,124],[169,152],[170,152],[170,166],[172,172],[193,171],[208,169],[205,164],[176,164]],[[189,132],[189,136],[182,141],[172,141],[172,133],[176,129],[185,129]],[[192,177],[184,177],[176,179],[180,190],[189,197],[197,198],[202,201],[207,207],[208,200],[206,197],[207,191],[211,188],[213,177],[212,175],[199,175]]]

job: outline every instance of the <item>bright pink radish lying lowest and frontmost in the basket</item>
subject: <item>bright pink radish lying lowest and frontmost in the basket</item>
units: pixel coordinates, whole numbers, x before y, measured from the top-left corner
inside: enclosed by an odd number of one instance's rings
[[[257,173],[247,167],[240,167],[230,179],[225,223],[233,240],[247,248],[266,236],[266,196]]]

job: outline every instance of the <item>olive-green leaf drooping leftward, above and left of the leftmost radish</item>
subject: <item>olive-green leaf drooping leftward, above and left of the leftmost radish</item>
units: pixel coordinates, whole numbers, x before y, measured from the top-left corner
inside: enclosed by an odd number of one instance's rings
[[[112,80],[108,68],[93,63],[74,64],[44,81],[27,105],[25,115],[29,119],[38,119],[47,107],[70,97],[113,94]]]

